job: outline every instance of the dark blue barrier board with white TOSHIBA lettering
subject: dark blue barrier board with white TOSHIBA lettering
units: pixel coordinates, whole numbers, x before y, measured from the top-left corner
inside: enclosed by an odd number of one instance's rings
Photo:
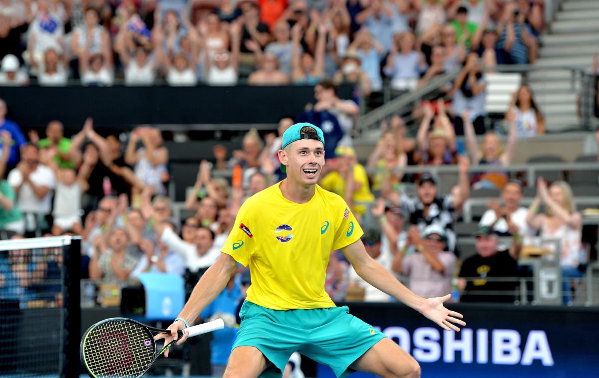
[[[422,377],[597,377],[599,309],[448,304],[464,315],[460,333],[442,330],[401,304],[349,304],[408,350]],[[368,332],[365,329],[364,332]],[[318,377],[334,377],[319,366]],[[374,377],[356,373],[352,377]]]

